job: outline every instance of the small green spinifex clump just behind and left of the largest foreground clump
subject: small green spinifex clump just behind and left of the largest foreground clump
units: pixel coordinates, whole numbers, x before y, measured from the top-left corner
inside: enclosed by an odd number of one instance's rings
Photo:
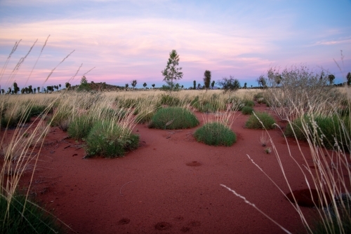
[[[68,136],[74,139],[83,139],[89,134],[95,123],[96,121],[91,116],[79,116],[69,123]]]

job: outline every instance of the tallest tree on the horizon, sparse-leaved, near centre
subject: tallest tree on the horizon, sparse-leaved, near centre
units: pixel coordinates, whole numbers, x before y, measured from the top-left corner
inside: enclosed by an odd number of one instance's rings
[[[166,68],[161,71],[162,76],[164,76],[164,81],[167,83],[171,91],[174,88],[174,81],[180,80],[183,78],[182,68],[178,67],[179,65],[179,55],[176,50],[172,50],[169,53],[168,62]]]

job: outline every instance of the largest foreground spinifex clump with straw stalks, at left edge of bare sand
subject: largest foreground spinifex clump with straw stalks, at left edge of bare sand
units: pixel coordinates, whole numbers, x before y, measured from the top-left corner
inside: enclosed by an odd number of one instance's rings
[[[139,135],[131,134],[130,129],[115,121],[98,121],[86,137],[86,157],[121,157],[126,151],[138,148],[138,144]]]

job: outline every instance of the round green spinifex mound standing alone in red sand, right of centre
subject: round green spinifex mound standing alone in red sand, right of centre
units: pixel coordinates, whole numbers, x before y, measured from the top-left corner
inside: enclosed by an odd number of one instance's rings
[[[198,142],[204,142],[210,146],[231,146],[237,141],[237,136],[222,123],[206,123],[196,130],[194,137]]]

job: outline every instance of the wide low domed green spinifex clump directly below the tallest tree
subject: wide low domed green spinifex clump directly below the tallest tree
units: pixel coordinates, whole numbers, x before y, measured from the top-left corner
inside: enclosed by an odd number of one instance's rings
[[[152,116],[149,128],[184,129],[194,128],[199,120],[187,109],[181,107],[167,107],[159,109]]]

